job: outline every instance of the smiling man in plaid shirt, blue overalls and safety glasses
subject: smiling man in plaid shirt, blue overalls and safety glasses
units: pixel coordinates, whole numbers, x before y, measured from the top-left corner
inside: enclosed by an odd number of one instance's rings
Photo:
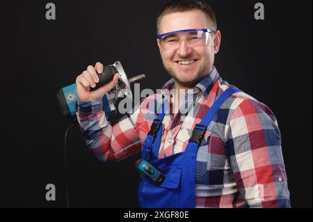
[[[220,40],[204,1],[164,6],[157,45],[172,79],[161,103],[158,95],[147,97],[115,125],[106,120],[102,97],[117,77],[95,91],[101,63],[77,77],[77,118],[98,159],[142,151],[141,207],[290,207],[278,122],[265,104],[220,77]],[[157,173],[163,180],[152,180]]]

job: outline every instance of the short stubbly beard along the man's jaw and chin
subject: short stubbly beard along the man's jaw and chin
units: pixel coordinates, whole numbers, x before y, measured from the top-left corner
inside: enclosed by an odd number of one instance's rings
[[[180,79],[178,77],[178,74],[173,70],[169,65],[164,64],[164,68],[168,74],[176,81],[179,86],[182,86],[184,88],[193,88],[195,87],[204,77],[207,77],[209,72],[211,72],[211,65],[200,65],[199,70],[195,74],[195,78],[189,79],[188,81]]]

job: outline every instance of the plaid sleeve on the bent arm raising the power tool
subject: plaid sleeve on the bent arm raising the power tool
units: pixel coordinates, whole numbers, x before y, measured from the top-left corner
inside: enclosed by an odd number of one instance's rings
[[[125,115],[111,125],[106,120],[102,100],[77,101],[77,119],[86,144],[101,161],[120,161],[141,151],[136,130],[138,112]],[[138,122],[137,122],[138,126]]]

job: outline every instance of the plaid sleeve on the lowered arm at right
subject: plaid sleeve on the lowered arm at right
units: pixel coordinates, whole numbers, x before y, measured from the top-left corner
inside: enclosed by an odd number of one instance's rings
[[[247,99],[234,109],[226,148],[246,207],[290,207],[280,129],[265,104]]]

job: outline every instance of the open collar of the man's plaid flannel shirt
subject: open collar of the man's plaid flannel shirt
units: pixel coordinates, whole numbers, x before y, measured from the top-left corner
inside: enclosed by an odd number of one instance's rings
[[[215,66],[213,66],[212,71],[207,74],[204,79],[198,82],[198,84],[193,88],[193,93],[199,93],[201,92],[204,97],[207,97],[209,92],[211,91],[211,88],[213,87],[214,83],[220,78],[220,74],[216,70]],[[170,79],[161,89],[161,93],[163,95],[168,95],[170,93],[170,90],[175,88],[174,86],[174,79]],[[200,91],[199,91],[200,90]]]

